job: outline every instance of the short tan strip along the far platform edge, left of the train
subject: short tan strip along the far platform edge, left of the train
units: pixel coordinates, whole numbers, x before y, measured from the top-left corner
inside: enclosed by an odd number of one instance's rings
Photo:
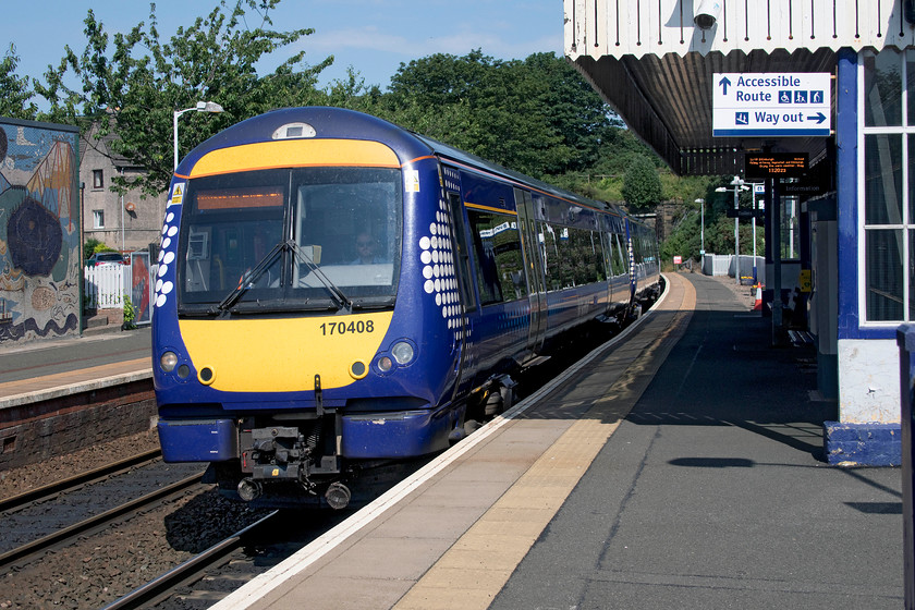
[[[148,357],[0,383],[0,408],[152,377]]]

